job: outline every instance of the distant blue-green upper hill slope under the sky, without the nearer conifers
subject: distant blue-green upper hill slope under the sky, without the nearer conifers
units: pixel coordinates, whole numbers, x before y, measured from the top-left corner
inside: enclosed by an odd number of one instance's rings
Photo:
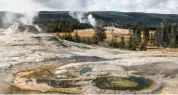
[[[175,14],[154,14],[154,13],[134,13],[134,12],[89,12],[97,20],[103,20],[107,24],[118,23],[118,24],[131,24],[139,23],[149,26],[158,26],[166,18],[170,24],[178,22],[178,15]],[[67,11],[63,12],[40,12],[38,20],[59,20],[59,19],[72,19]]]

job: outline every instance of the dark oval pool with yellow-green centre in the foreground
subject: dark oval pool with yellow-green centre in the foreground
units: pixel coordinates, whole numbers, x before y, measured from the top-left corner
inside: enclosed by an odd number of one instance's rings
[[[102,76],[94,80],[95,86],[100,89],[112,90],[142,90],[149,88],[153,81],[138,77]]]

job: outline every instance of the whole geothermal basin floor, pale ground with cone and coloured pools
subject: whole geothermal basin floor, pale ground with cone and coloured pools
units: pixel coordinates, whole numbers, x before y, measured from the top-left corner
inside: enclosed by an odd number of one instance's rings
[[[85,45],[20,24],[0,39],[0,93],[178,93],[177,52]]]

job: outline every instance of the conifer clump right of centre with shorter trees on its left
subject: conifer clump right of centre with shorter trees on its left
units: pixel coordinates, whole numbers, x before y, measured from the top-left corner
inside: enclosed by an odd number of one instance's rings
[[[129,28],[130,37],[129,40],[125,40],[122,36],[120,41],[117,41],[116,37],[112,38],[110,43],[111,47],[121,48],[127,50],[147,50],[147,45],[149,42],[149,28],[146,26],[134,25]],[[143,36],[143,37],[142,37]]]

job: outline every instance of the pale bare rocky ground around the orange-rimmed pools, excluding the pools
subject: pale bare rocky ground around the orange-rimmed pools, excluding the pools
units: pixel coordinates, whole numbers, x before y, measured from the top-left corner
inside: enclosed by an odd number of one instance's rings
[[[0,93],[8,93],[16,72],[63,63],[55,74],[70,68],[90,67],[90,77],[101,74],[148,77],[164,86],[150,93],[178,93],[178,53],[159,50],[140,52],[62,41],[54,35],[31,32],[16,24],[0,35]],[[86,76],[86,75],[85,75]],[[93,91],[88,86],[88,93]],[[112,93],[112,92],[108,92]]]

